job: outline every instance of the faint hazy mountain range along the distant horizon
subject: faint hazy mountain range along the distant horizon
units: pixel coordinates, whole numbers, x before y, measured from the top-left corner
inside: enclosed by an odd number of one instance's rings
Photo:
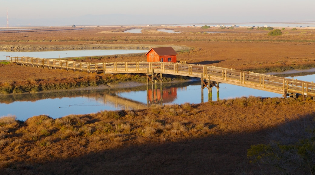
[[[62,26],[62,25],[150,25],[150,24],[192,24],[201,23],[197,17],[179,17],[167,15],[84,15],[75,18],[51,18],[51,19],[11,19],[9,27],[18,26]],[[6,17],[0,17],[0,27],[7,26]]]

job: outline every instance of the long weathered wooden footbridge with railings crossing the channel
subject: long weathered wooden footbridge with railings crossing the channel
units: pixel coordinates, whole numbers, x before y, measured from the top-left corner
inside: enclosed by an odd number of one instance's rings
[[[10,61],[22,66],[26,65],[48,67],[51,69],[60,68],[73,71],[103,72],[104,74],[143,73],[147,75],[147,80],[152,81],[152,84],[154,79],[162,82],[162,74],[197,77],[201,78],[202,89],[208,88],[209,92],[212,91],[212,87],[216,87],[217,90],[219,90],[220,82],[279,93],[284,97],[291,94],[295,95],[296,93],[315,97],[315,85],[313,82],[216,66],[166,62],[86,63],[33,57],[10,57]],[[158,74],[160,75],[158,76]]]

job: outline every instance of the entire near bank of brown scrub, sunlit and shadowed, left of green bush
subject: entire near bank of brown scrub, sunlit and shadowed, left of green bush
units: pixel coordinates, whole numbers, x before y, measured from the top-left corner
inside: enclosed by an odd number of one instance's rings
[[[25,122],[8,116],[0,119],[0,170],[256,174],[247,162],[250,145],[266,143],[278,126],[314,110],[311,99],[242,97]]]

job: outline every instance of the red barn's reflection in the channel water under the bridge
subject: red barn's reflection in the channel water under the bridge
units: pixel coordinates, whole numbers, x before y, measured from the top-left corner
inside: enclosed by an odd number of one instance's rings
[[[175,100],[177,97],[177,88],[176,87],[171,87],[167,89],[162,90],[162,97],[161,97],[161,90],[160,89],[149,89],[149,101],[152,103],[170,103]]]

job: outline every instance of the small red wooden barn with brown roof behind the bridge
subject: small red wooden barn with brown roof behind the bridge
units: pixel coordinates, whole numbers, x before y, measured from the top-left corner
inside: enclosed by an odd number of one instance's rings
[[[176,62],[176,51],[172,47],[151,48],[146,53],[148,62]]]

